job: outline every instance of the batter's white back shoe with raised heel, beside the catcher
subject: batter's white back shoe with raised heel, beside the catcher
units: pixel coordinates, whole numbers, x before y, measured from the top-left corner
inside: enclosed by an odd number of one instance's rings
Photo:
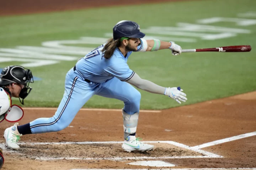
[[[20,140],[22,136],[17,129],[18,123],[14,124],[14,126],[8,127],[4,132],[4,138],[6,140],[6,147],[10,149],[19,149],[17,142]]]

